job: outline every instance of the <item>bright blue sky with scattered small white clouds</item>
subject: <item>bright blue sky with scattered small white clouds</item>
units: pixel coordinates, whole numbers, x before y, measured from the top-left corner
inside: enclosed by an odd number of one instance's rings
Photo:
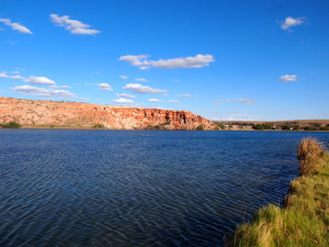
[[[329,119],[328,13],[328,0],[0,0],[0,97]]]

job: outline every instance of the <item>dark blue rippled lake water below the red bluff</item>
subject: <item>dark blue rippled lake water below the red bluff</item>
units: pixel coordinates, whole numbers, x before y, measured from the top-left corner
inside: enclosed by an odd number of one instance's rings
[[[222,246],[329,133],[0,130],[0,246]]]

